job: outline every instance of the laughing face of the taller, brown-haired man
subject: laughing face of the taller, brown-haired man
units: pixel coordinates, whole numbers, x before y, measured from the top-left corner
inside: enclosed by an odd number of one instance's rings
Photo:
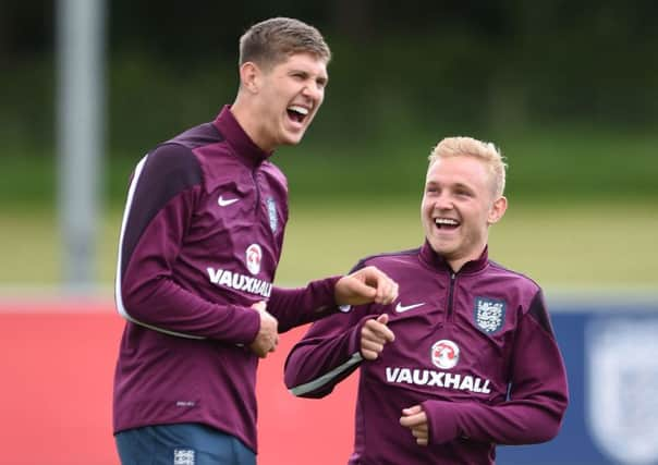
[[[233,112],[265,151],[296,145],[325,99],[327,61],[294,53],[271,66],[241,66],[242,87]],[[246,110],[246,111],[243,111]]]

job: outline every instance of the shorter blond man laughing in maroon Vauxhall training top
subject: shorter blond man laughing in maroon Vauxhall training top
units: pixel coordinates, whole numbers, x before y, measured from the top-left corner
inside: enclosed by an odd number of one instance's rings
[[[558,433],[566,375],[541,289],[488,257],[504,184],[492,144],[441,140],[425,179],[423,246],[356,266],[385,271],[399,298],[315,322],[290,353],[295,395],[321,397],[361,369],[350,464],[493,464],[496,444]]]

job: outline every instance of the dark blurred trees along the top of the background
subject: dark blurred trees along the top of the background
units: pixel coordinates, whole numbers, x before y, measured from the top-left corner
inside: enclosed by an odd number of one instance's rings
[[[51,132],[56,4],[0,3],[2,139]],[[403,8],[112,0],[108,8],[117,151],[149,146],[232,98],[237,37],[273,15],[317,25],[334,50],[319,137],[354,124],[381,137],[400,121],[493,130],[658,121],[658,2],[649,0],[407,0]]]

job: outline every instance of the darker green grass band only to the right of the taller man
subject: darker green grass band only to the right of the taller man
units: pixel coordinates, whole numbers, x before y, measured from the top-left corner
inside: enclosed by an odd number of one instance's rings
[[[658,136],[586,126],[527,131],[471,131],[439,125],[404,127],[375,139],[308,142],[285,148],[276,162],[291,195],[318,199],[421,193],[427,156],[440,138],[467,134],[492,140],[509,163],[507,195],[523,201],[599,203],[644,199],[658,204]],[[343,145],[341,145],[343,144]]]

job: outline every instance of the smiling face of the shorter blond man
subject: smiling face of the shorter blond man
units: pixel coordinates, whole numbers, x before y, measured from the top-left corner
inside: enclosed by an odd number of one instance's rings
[[[431,248],[454,271],[477,259],[488,228],[500,220],[507,199],[496,195],[486,163],[472,156],[438,158],[427,170],[421,216]]]

